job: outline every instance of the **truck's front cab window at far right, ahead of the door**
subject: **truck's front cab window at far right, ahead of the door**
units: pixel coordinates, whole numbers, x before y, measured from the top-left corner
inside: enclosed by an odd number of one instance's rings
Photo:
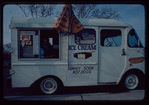
[[[140,44],[138,44],[138,39],[139,39],[139,37],[138,37],[136,31],[134,29],[130,30],[130,32],[128,34],[128,46],[133,47],[133,48],[143,47],[140,40],[139,40]]]

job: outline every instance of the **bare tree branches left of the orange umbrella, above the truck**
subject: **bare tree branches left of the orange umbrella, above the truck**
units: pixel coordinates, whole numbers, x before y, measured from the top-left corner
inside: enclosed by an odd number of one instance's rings
[[[53,14],[56,5],[53,4],[23,4],[18,5],[25,17],[49,17]]]

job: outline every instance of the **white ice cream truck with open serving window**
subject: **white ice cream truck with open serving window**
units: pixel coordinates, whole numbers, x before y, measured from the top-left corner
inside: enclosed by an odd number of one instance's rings
[[[12,88],[33,84],[45,94],[62,87],[144,85],[144,47],[135,29],[113,19],[79,19],[84,29],[59,34],[57,18],[11,19]]]

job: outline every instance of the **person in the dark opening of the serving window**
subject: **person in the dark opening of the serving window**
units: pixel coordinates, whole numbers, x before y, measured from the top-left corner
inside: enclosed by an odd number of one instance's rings
[[[41,58],[52,58],[53,55],[53,46],[49,43],[47,38],[42,40],[41,48],[40,48],[40,57]]]

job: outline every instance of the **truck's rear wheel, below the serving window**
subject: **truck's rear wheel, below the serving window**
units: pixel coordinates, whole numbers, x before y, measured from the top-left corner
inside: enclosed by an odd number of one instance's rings
[[[55,94],[58,91],[58,82],[51,77],[44,78],[40,82],[40,90],[44,94]]]

